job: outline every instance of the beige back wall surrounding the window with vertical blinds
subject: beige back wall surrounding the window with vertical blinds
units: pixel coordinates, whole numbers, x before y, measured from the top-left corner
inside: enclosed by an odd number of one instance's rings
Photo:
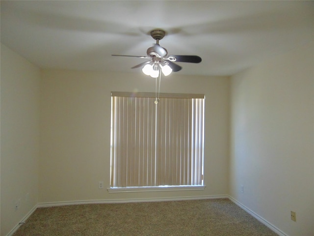
[[[110,91],[155,92],[142,73],[44,70],[39,202],[211,196],[228,192],[229,85],[226,77],[162,78],[161,92],[205,93],[205,184],[201,191],[108,193]],[[98,181],[105,188],[98,189]]]

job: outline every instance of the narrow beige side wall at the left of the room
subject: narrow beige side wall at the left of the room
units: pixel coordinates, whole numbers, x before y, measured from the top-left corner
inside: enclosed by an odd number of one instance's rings
[[[38,203],[39,91],[39,69],[1,44],[3,236]],[[16,210],[19,199],[21,204]]]

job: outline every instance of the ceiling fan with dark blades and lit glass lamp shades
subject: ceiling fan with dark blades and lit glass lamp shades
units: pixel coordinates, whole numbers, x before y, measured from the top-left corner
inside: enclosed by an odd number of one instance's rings
[[[165,36],[166,32],[162,29],[153,29],[151,31],[151,36],[156,40],[156,44],[153,47],[147,49],[147,56],[128,56],[128,55],[111,55],[120,57],[136,57],[150,59],[144,61],[133,68],[138,68],[143,66],[142,71],[146,75],[150,75],[153,78],[157,78],[159,73],[163,73],[164,76],[169,75],[172,71],[177,72],[182,69],[182,67],[174,62],[190,62],[190,63],[200,63],[202,59],[199,56],[187,56],[187,55],[169,55],[165,48],[159,45],[159,40]],[[161,71],[161,72],[159,72]]]

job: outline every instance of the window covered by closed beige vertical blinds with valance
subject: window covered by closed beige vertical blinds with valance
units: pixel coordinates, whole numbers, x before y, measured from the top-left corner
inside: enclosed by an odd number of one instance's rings
[[[111,92],[110,188],[203,186],[204,94]]]

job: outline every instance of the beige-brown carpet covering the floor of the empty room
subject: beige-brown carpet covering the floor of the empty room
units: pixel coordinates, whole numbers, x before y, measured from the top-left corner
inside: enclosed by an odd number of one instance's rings
[[[14,236],[277,236],[228,199],[38,208]]]

